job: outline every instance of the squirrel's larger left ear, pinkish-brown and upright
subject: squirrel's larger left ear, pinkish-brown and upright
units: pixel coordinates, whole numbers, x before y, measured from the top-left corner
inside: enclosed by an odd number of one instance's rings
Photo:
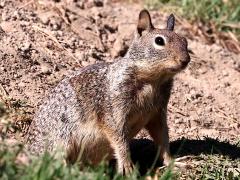
[[[139,18],[138,18],[138,25],[137,25],[138,34],[141,36],[143,31],[145,30],[149,31],[150,29],[153,29],[153,28],[154,27],[152,25],[151,17],[148,10],[143,9],[140,12]]]

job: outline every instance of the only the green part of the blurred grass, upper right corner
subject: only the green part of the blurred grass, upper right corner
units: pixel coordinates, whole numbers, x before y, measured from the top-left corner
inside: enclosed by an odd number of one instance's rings
[[[146,4],[159,9],[171,6],[192,22],[213,22],[219,31],[235,31],[240,38],[239,0],[146,0]]]

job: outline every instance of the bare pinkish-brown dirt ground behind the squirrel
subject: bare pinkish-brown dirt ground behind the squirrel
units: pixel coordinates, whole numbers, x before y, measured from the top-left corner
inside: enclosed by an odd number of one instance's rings
[[[141,3],[0,0],[0,89],[30,117],[71,71],[124,55]],[[164,27],[167,14],[151,11]],[[176,32],[188,37],[177,22]],[[176,76],[168,108],[171,141],[240,141],[240,54],[189,37],[192,61]],[[141,133],[140,137],[145,136]]]

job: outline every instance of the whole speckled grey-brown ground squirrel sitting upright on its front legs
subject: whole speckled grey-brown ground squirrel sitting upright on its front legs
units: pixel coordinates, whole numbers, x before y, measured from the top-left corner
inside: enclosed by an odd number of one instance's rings
[[[146,128],[160,146],[160,159],[171,160],[166,120],[173,76],[190,56],[187,41],[166,29],[154,28],[147,10],[139,14],[135,38],[123,58],[80,69],[62,80],[40,106],[31,124],[31,152],[64,148],[74,161],[97,164],[117,159],[118,172],[132,170],[129,141]]]

